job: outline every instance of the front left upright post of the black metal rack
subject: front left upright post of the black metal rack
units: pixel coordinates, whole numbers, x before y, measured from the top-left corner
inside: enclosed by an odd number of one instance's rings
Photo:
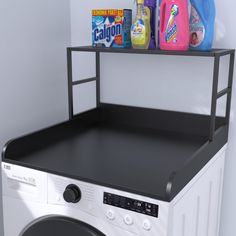
[[[72,78],[72,49],[67,48],[67,73],[68,73],[68,108],[69,119],[74,115],[73,111],[73,78]]]

